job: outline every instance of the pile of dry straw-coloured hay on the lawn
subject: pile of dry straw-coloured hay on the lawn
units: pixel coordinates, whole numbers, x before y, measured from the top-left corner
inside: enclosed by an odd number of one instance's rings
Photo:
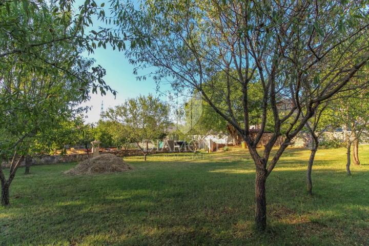
[[[113,154],[103,154],[80,162],[74,168],[64,172],[69,175],[125,172],[132,168]]]

